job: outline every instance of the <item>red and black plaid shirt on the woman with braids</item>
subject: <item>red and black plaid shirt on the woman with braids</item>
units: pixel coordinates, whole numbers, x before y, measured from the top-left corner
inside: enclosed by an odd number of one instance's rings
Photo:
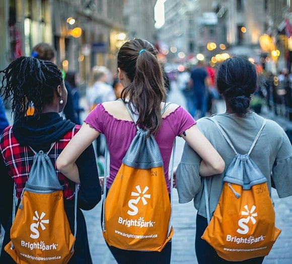
[[[74,197],[75,183],[68,180],[59,170],[57,170],[56,159],[79,129],[80,126],[76,125],[72,130],[68,131],[63,138],[59,139],[55,143],[48,154],[56,170],[59,182],[63,187],[64,198],[67,200]],[[17,198],[20,199],[25,183],[29,177],[29,171],[32,166],[34,153],[29,146],[22,146],[18,143],[13,135],[12,126],[7,127],[3,131],[0,142],[0,150],[2,152],[4,162],[8,168],[8,174],[16,183]]]

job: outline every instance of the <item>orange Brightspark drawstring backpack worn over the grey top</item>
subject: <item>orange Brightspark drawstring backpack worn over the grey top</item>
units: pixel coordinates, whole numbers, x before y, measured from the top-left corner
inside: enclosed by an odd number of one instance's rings
[[[207,179],[203,180],[208,226],[202,239],[216,250],[218,256],[229,261],[265,256],[281,232],[275,227],[267,179],[250,157],[266,120],[248,153],[239,154],[222,127],[211,119],[236,155],[227,168],[221,197],[211,220]]]

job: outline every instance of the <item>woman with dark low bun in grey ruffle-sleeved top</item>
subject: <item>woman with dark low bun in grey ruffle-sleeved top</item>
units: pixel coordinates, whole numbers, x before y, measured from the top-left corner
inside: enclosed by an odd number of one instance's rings
[[[224,61],[218,69],[216,84],[225,100],[226,113],[201,118],[197,124],[221,154],[227,169],[235,153],[212,119],[221,126],[237,152],[245,154],[264,124],[264,118],[249,109],[251,97],[256,91],[257,74],[255,66],[247,59],[234,57]],[[276,122],[266,120],[250,157],[266,177],[270,194],[273,182],[279,198],[292,195],[292,147],[284,130]],[[198,169],[200,160],[199,155],[186,144],[176,170],[179,202],[187,203],[193,199],[197,209],[195,252],[198,263],[262,263],[263,256],[244,261],[227,261],[219,257],[215,249],[201,238],[207,227],[207,213],[205,189]],[[221,175],[207,178],[210,216],[221,196],[226,169]]]

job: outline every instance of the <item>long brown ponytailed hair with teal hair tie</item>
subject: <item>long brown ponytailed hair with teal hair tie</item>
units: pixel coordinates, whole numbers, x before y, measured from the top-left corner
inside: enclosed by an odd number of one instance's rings
[[[118,53],[118,67],[131,83],[122,92],[122,99],[132,103],[139,118],[137,124],[155,134],[161,125],[161,102],[166,99],[161,65],[157,51],[148,41],[127,41]]]

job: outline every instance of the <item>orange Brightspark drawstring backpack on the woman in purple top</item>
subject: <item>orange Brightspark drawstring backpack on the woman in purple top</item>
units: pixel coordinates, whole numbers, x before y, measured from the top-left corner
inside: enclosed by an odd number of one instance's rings
[[[130,111],[127,103],[125,106],[136,123],[137,115]],[[174,148],[172,155],[171,179]],[[106,169],[107,159],[106,154]],[[105,196],[106,180],[102,229],[104,239],[110,246],[126,250],[161,251],[172,238],[171,199],[163,160],[154,136],[148,136],[147,130],[137,127],[137,133]]]

